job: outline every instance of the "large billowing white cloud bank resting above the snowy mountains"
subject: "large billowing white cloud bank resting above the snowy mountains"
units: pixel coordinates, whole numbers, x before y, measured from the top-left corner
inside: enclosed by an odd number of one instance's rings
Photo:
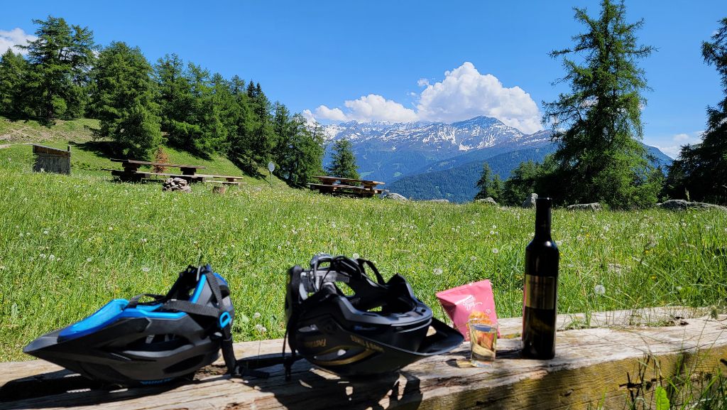
[[[473,63],[444,73],[441,82],[430,84],[428,79],[417,81],[425,87],[417,98],[417,109],[408,109],[381,95],[364,95],[358,100],[346,100],[346,111],[318,106],[316,117],[332,121],[358,122],[417,120],[456,122],[480,115],[494,117],[524,133],[542,130],[540,112],[530,95],[520,87],[506,88],[492,74],[480,74]]]

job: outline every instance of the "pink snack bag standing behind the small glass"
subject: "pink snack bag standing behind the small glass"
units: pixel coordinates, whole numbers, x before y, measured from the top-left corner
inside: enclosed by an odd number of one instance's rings
[[[467,285],[438,292],[437,299],[439,299],[439,303],[442,304],[449,318],[454,322],[454,328],[465,336],[465,340],[470,340],[470,332],[467,331],[467,320],[473,312],[483,312],[492,320],[492,323],[497,323],[492,284],[489,280],[467,283]],[[499,330],[497,336],[499,336]]]

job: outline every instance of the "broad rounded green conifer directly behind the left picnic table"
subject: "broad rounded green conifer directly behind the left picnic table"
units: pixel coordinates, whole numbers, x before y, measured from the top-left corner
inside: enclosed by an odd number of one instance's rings
[[[102,50],[92,71],[100,135],[112,138],[119,151],[137,159],[148,157],[161,143],[151,73],[141,50],[123,42],[112,42]]]

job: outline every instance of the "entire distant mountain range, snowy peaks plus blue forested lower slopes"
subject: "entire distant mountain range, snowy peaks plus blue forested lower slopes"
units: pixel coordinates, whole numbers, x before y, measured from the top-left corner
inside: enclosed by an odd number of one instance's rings
[[[351,141],[361,178],[384,181],[391,192],[416,200],[472,200],[483,162],[504,181],[520,162],[542,162],[556,148],[550,131],[525,134],[491,117],[451,124],[352,121],[325,125],[324,133],[329,147],[340,138]],[[647,148],[655,165],[671,164],[662,151]]]

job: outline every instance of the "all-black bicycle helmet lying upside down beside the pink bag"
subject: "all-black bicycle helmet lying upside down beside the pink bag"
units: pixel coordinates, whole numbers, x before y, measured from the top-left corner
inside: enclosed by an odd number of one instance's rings
[[[296,265],[288,274],[288,375],[297,353],[332,373],[358,377],[396,371],[462,343],[463,336],[434,318],[403,277],[385,282],[371,261],[318,255],[310,269]],[[336,283],[345,283],[353,294]]]

